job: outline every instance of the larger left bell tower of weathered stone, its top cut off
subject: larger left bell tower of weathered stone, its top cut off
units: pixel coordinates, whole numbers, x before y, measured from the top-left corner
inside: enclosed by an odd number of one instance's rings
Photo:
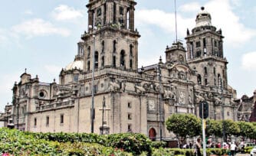
[[[137,70],[139,32],[134,29],[133,0],[90,0],[84,40],[84,70],[104,67]]]

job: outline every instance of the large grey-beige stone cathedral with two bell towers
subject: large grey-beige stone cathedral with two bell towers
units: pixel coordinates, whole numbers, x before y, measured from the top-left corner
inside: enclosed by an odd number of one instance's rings
[[[134,0],[89,0],[87,31],[59,83],[42,83],[27,71],[15,83],[11,121],[29,132],[143,133],[169,139],[165,121],[173,113],[238,120],[236,91],[228,86],[222,30],[202,7],[185,45],[166,47],[166,62],[138,67],[139,31]],[[185,31],[185,30],[184,30]]]

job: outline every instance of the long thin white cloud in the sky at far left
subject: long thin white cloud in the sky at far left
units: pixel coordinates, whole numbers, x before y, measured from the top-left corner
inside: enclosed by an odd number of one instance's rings
[[[44,21],[41,18],[24,21],[23,23],[12,27],[12,30],[18,34],[24,34],[28,38],[50,34],[60,34],[61,36],[67,37],[70,34],[67,29],[57,28],[51,24],[51,22]]]

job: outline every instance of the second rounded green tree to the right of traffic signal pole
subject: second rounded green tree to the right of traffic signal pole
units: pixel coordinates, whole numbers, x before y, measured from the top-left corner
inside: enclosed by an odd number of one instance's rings
[[[232,120],[222,120],[222,128],[225,132],[224,141],[227,141],[228,136],[238,135],[240,132],[238,124]]]

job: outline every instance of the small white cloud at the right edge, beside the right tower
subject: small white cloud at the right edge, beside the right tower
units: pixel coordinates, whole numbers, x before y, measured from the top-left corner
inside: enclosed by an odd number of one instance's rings
[[[241,66],[244,70],[256,71],[256,51],[244,54],[241,60]]]

